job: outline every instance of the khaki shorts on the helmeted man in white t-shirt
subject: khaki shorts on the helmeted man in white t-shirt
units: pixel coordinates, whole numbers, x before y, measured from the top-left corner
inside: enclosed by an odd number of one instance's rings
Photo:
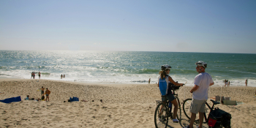
[[[191,105],[190,105],[190,112],[191,113],[204,113],[206,108],[206,100],[197,100],[192,99]]]

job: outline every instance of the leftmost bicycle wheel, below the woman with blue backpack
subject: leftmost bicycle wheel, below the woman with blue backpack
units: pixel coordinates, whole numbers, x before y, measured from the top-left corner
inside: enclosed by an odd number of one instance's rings
[[[154,112],[154,125],[156,128],[167,127],[168,124],[168,110],[164,103],[159,103]]]

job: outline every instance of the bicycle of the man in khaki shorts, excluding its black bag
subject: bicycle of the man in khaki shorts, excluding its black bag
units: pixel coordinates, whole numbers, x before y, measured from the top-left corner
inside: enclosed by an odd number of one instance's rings
[[[192,99],[185,99],[184,102],[183,102],[183,111],[184,111],[184,114],[185,116],[187,116],[187,118],[189,118],[190,120],[190,116],[191,116],[191,112],[189,111],[189,108],[190,108],[190,105],[191,105],[191,102],[192,102]],[[208,121],[209,121],[209,116],[210,116],[210,113],[211,111],[214,110],[214,105],[218,105],[219,102],[215,102],[213,99],[211,99],[211,102],[212,102],[212,106],[210,107],[210,105],[206,102],[206,106],[208,108],[205,108],[205,112],[203,113],[203,117],[204,117],[204,121],[203,121],[203,124],[208,124]],[[215,108],[216,109],[219,109],[219,108]],[[208,110],[210,110],[210,112],[208,113]],[[206,116],[207,114],[207,116]],[[197,114],[196,118],[195,118],[195,123],[196,124],[199,124],[199,114]],[[219,122],[219,127],[222,127],[222,124],[221,122]],[[210,125],[208,124],[208,127],[210,127]],[[228,126],[227,126],[228,127]],[[230,127],[230,126],[229,126]]]

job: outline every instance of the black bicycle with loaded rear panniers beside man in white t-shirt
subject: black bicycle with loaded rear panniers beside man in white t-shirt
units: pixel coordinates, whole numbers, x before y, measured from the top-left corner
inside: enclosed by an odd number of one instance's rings
[[[183,111],[184,111],[185,116],[187,116],[187,118],[189,118],[189,120],[190,120],[190,116],[191,116],[191,112],[189,110],[191,102],[192,102],[192,99],[185,99],[183,102]],[[213,112],[213,110],[215,110],[215,111],[217,110],[218,111],[217,113],[226,113],[225,111],[220,110],[219,108],[214,109],[214,105],[219,104],[219,102],[215,102],[213,99],[211,99],[211,104],[212,104],[212,106],[210,107],[210,105],[206,102],[207,108],[205,108],[205,112],[203,113],[203,116],[204,116],[203,124],[208,124],[208,127],[211,127],[211,125],[209,124],[209,123],[211,123],[211,121],[209,121],[209,117],[212,116],[211,112]],[[231,119],[231,115],[229,113],[227,113],[227,115],[230,116],[229,119]],[[218,117],[214,117],[214,118],[216,118],[216,120],[218,119]],[[196,124],[200,123],[199,122],[199,114],[197,114],[197,116],[195,118],[195,123]],[[214,123],[216,123],[216,122],[214,122]],[[224,121],[224,120],[222,120],[222,118],[219,118],[217,123],[219,123],[218,127],[230,127],[230,121],[229,122],[228,122],[228,120]],[[225,125],[223,125],[223,124],[225,124]]]

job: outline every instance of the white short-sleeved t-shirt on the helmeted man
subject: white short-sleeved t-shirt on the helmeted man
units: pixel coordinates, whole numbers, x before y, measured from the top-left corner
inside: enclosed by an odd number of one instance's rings
[[[199,73],[195,76],[194,84],[199,86],[199,88],[193,92],[193,99],[197,100],[207,100],[208,99],[208,89],[210,83],[213,83],[211,75],[207,72]]]

